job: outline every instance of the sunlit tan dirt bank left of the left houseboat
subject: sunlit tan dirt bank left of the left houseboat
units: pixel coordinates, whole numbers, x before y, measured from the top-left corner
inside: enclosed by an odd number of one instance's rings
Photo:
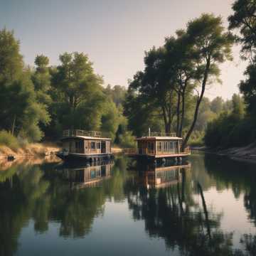
[[[7,156],[14,156],[18,158],[30,158],[30,157],[44,157],[55,155],[60,148],[55,144],[49,143],[33,143],[24,146],[21,149],[13,150],[7,146],[0,146],[0,159],[6,159]]]

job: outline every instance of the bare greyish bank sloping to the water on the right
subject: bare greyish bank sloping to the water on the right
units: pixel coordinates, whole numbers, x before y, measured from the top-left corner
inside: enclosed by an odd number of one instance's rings
[[[236,161],[256,164],[256,142],[247,146],[232,147],[229,149],[209,149],[205,146],[193,147],[192,149],[217,154],[218,156],[227,156]]]

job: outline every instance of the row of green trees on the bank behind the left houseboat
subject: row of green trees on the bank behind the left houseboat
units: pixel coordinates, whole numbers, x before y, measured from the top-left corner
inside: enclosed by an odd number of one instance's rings
[[[63,129],[97,130],[119,144],[133,143],[122,114],[125,88],[103,87],[87,55],[63,53],[57,66],[37,55],[31,68],[6,29],[0,31],[0,49],[0,144],[56,140]]]

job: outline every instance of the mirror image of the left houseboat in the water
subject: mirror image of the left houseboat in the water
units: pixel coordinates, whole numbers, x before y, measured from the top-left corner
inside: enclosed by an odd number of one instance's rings
[[[100,186],[102,181],[111,177],[112,161],[95,161],[87,164],[63,164],[59,166],[63,180],[70,183],[71,188],[87,188]]]

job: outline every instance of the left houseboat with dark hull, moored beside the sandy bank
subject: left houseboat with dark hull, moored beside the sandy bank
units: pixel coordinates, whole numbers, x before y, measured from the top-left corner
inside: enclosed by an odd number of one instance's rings
[[[100,132],[68,129],[61,138],[62,151],[57,156],[65,161],[97,161],[111,159],[111,139],[102,137]]]

